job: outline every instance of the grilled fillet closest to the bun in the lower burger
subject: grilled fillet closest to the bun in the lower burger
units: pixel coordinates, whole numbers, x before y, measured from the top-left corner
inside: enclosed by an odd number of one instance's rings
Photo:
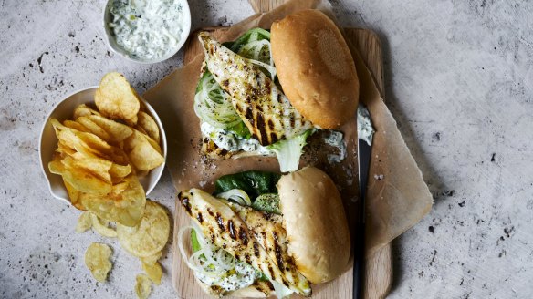
[[[287,281],[298,285],[301,289],[308,288],[308,279],[298,273],[294,260],[288,255],[287,232],[281,225],[281,216],[255,211],[232,202],[228,202],[228,205],[246,223],[248,230],[266,249],[266,253],[276,263]]]

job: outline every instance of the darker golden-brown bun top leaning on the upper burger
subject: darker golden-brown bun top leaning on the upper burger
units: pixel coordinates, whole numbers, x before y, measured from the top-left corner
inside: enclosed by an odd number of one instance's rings
[[[355,115],[359,79],[350,49],[335,23],[318,10],[288,15],[271,28],[277,77],[290,103],[324,129]]]

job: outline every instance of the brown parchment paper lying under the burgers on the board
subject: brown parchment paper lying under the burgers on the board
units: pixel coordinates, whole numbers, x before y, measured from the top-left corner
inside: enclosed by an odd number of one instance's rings
[[[269,29],[274,21],[285,15],[308,8],[326,10],[328,15],[334,18],[328,5],[321,1],[294,0],[266,14],[252,15],[227,30],[218,30],[214,36],[223,42],[235,40],[247,29],[256,26]],[[190,38],[192,43],[198,43],[196,36]],[[193,50],[189,52],[191,51]],[[431,210],[433,200],[423,181],[422,173],[403,141],[369,70],[353,46],[351,51],[360,79],[360,101],[369,108],[376,129],[366,210],[367,256],[370,256],[382,245],[391,242],[419,222]],[[247,157],[237,160],[202,158],[200,120],[193,111],[193,98],[204,54],[199,46],[196,46],[196,53],[198,55],[191,63],[176,69],[143,95],[162,119],[169,147],[167,166],[171,171],[176,190],[183,191],[196,187],[213,191],[214,180],[225,174],[244,170],[278,171],[279,166],[275,158]],[[310,138],[307,152],[300,161],[300,167],[317,166],[335,180],[348,211],[350,227],[354,227],[353,222],[356,221],[354,215],[358,209],[359,194],[356,126],[357,121],[354,116],[340,129],[345,134],[348,150],[348,157],[341,163],[329,164],[327,155],[334,153],[335,149],[324,145],[320,133]],[[374,179],[374,175],[380,179]]]

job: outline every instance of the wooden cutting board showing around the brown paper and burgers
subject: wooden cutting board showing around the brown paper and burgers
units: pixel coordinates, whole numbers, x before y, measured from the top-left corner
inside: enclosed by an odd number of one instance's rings
[[[276,2],[276,1],[274,1]],[[282,3],[283,1],[277,1]],[[252,3],[256,11],[264,11],[262,9],[270,9],[268,1],[258,1],[256,5]],[[211,31],[216,37],[225,28],[206,28],[206,31]],[[378,36],[366,29],[345,29],[346,37],[354,46],[357,47],[361,53],[361,58],[369,67],[374,80],[383,96],[383,72],[382,72],[382,58],[381,58],[381,42]],[[184,63],[187,64],[193,60],[193,57],[201,53],[202,49],[196,41],[196,35],[192,34],[185,46]],[[188,225],[190,219],[183,211],[181,205],[176,202],[176,217],[174,223],[175,232],[179,231],[183,225]],[[177,242],[174,238],[173,242],[173,264],[172,264],[172,281],[174,288],[178,292],[180,298],[196,299],[209,298],[201,290],[200,286],[196,284],[193,272],[182,263],[182,257]],[[313,286],[313,298],[352,298],[352,272],[351,270],[343,273],[340,278],[330,282],[329,284],[322,284]],[[377,253],[373,254],[367,259],[366,268],[366,284],[365,284],[365,298],[383,298],[390,289],[392,283],[392,246],[388,244],[381,248]],[[295,296],[297,297],[297,296]]]

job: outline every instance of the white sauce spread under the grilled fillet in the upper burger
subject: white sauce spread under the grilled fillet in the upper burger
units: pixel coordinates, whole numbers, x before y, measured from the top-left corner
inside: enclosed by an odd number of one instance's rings
[[[215,128],[205,121],[200,125],[200,130],[205,137],[213,140],[214,144],[221,149],[232,152],[243,150],[261,156],[275,155],[274,151],[266,149],[266,147],[262,146],[256,139],[241,138],[234,132]]]

